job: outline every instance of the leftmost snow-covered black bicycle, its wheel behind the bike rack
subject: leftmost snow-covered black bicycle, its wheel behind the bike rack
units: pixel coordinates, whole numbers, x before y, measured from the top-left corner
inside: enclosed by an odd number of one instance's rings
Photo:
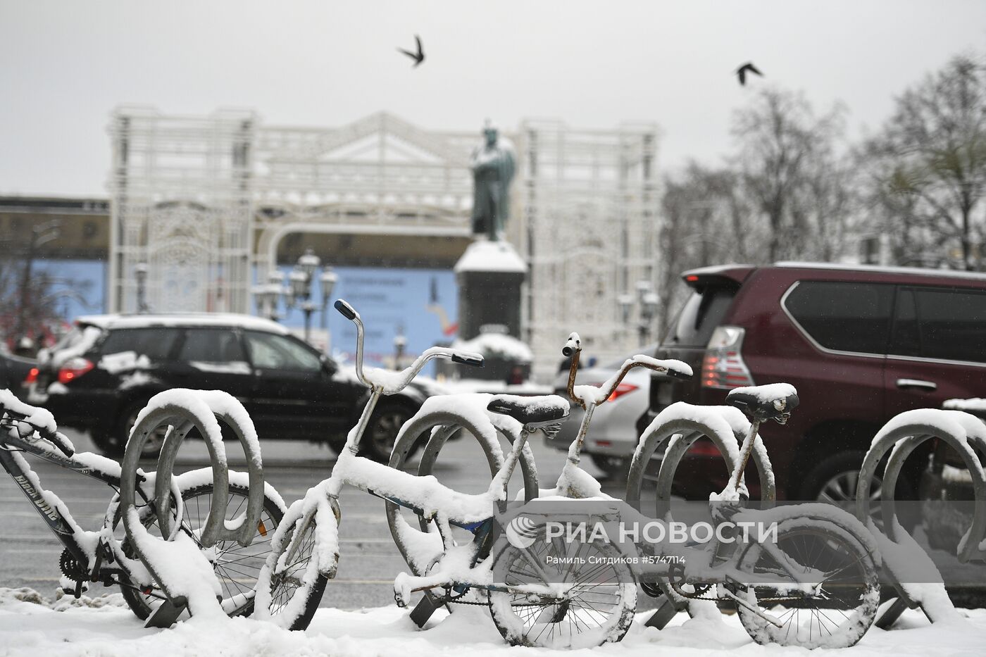
[[[91,476],[116,491],[106,509],[103,527],[96,532],[82,529],[66,504],[55,493],[44,489],[24,455]],[[11,475],[64,546],[59,559],[63,588],[79,597],[90,583],[119,586],[127,605],[141,620],[147,619],[164,601],[160,586],[122,538],[118,463],[98,454],[76,452],[71,441],[58,432],[49,411],[20,401],[10,391],[3,390],[0,391],[0,466]],[[138,513],[151,532],[157,531],[155,480],[155,473],[138,472],[136,493],[142,500]],[[211,506],[214,490],[211,472],[202,469],[180,474],[173,479],[171,489],[171,513],[176,520],[180,518],[179,531],[196,541]],[[243,511],[247,497],[246,474],[230,473],[229,520]],[[266,484],[256,540],[249,547],[223,542],[209,548],[209,561],[221,585],[221,604],[228,615],[251,613],[253,585],[284,509],[281,496]]]

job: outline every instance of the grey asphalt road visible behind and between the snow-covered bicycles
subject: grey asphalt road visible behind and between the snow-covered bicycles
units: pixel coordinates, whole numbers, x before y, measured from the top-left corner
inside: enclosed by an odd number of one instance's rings
[[[84,434],[67,432],[79,451],[92,450]],[[227,443],[231,468],[246,470],[239,444]],[[532,445],[537,460],[541,486],[550,487],[561,471],[564,454],[544,446],[538,435]],[[267,441],[262,444],[264,474],[281,493],[285,502],[303,496],[305,491],[328,476],[334,463],[333,454],[326,448],[296,441]],[[184,472],[209,464],[203,443],[182,445],[176,471]],[[87,476],[61,470],[32,459],[32,467],[42,485],[57,494],[69,507],[76,521],[85,529],[96,530],[103,522],[106,504],[112,491],[105,484]],[[154,463],[146,470],[154,470]],[[592,464],[587,470],[599,475]],[[416,468],[412,463],[411,470]],[[446,485],[464,492],[485,489],[490,477],[485,459],[475,442],[469,439],[450,442],[436,466],[436,476]],[[512,482],[511,493],[518,489]],[[611,494],[622,496],[625,482],[612,481],[605,486]],[[340,609],[360,609],[393,604],[393,577],[407,569],[393,545],[384,514],[384,503],[361,490],[344,489],[340,497],[342,523],[340,527],[341,561],[338,576],[330,580],[322,598],[322,606]],[[28,586],[47,597],[53,597],[58,586],[58,557],[62,551],[54,536],[42,524],[32,506],[9,476],[0,476],[0,518],[4,534],[0,538],[0,586]],[[93,594],[106,589],[94,584]],[[646,596],[641,596],[640,609],[647,609]]]

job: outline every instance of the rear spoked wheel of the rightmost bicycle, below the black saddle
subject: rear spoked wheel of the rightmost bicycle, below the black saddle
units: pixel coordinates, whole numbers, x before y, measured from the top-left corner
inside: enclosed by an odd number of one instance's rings
[[[844,527],[821,518],[789,518],[777,526],[776,553],[749,543],[739,569],[753,585],[726,588],[778,620],[777,626],[743,605],[737,606],[746,632],[760,644],[805,648],[855,645],[877,616],[878,567],[873,554]],[[782,567],[810,573],[813,590],[800,588]]]

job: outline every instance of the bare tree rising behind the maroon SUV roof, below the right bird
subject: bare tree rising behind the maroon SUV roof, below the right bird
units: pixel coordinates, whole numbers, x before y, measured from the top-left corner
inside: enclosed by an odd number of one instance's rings
[[[845,245],[852,196],[836,154],[844,110],[816,116],[804,94],[760,92],[733,124],[742,192],[765,220],[766,259],[832,259]]]

